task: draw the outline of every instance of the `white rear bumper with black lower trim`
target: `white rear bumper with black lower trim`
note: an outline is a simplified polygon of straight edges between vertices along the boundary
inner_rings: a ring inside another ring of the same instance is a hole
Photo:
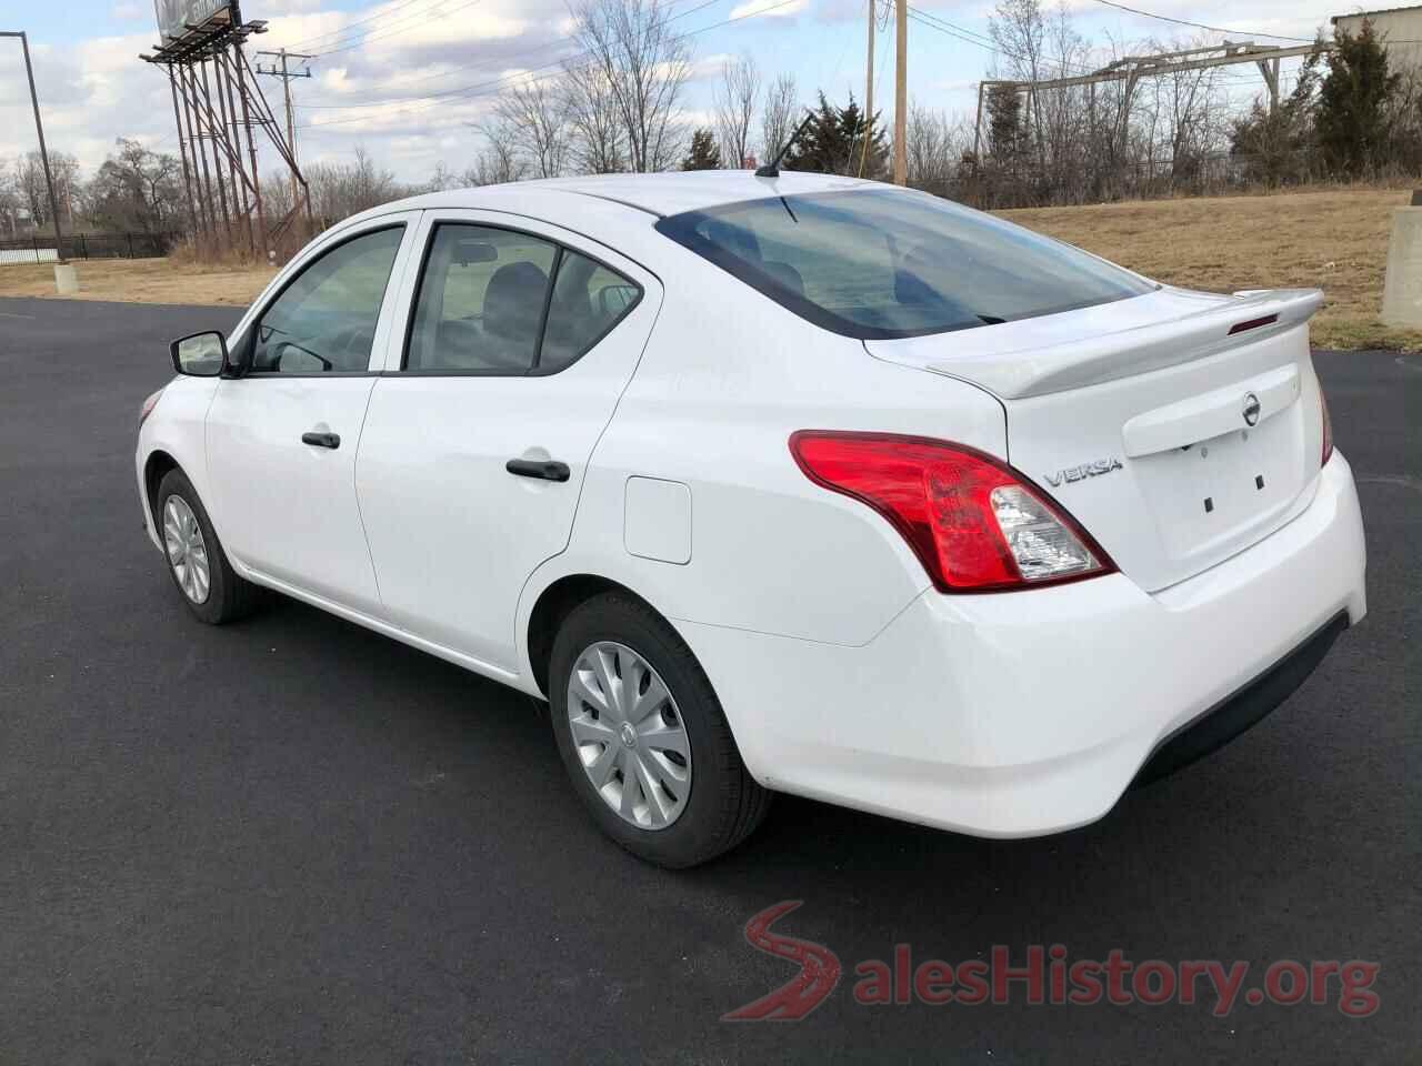
[[[1155,594],[1122,574],[998,596],[927,591],[860,647],[678,623],[755,777],[975,836],[1099,819],[1301,684],[1367,611],[1341,455],[1310,506]]]

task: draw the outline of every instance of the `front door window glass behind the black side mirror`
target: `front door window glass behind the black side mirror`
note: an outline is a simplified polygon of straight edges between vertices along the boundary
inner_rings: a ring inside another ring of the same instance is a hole
[[[252,370],[266,374],[364,371],[375,343],[404,226],[337,244],[307,266],[262,313]]]

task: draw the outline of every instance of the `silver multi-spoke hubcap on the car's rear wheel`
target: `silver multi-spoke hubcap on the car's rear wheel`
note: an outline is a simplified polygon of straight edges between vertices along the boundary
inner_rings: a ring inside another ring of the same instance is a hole
[[[567,679],[573,745],[609,807],[638,829],[665,829],[691,796],[691,741],[657,671],[623,644],[583,650]]]

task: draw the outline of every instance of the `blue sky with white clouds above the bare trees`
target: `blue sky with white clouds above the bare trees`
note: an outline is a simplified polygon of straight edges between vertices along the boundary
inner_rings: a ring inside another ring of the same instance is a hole
[[[1065,1],[1078,31],[1101,44],[1203,33],[1103,0]],[[684,107],[694,124],[710,122],[715,80],[734,55],[751,57],[768,78],[792,72],[806,102],[816,90],[832,99],[863,95],[867,0],[663,3],[691,47]],[[1358,10],[1318,0],[1123,3],[1260,44],[1311,38],[1330,16]],[[977,81],[995,60],[987,38],[993,0],[913,0],[910,10],[910,95],[921,105],[970,114]],[[488,115],[498,88],[547,77],[576,55],[566,0],[246,0],[242,17],[267,21],[252,50],[316,54],[311,77],[293,82],[301,161],[350,159],[364,148],[405,182],[424,181],[438,162],[464,171],[479,151],[471,124]],[[158,40],[152,0],[0,0],[0,30],[28,33],[46,138],[51,149],[75,155],[84,176],[118,136],[176,152],[168,81],[138,58]],[[892,28],[879,33],[877,43],[875,99],[889,118]],[[280,109],[280,82],[262,82]],[[1229,68],[1229,84],[1240,98],[1263,87],[1247,64]],[[0,166],[36,145],[20,43],[0,38]],[[269,166],[264,162],[263,171]]]

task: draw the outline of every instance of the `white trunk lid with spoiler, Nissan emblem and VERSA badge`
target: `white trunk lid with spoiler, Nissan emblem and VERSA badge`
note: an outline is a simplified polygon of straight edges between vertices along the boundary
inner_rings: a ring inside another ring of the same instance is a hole
[[[865,347],[998,397],[1008,462],[1156,591],[1307,506],[1322,448],[1308,348],[1321,300],[1317,290],[1160,289]]]

